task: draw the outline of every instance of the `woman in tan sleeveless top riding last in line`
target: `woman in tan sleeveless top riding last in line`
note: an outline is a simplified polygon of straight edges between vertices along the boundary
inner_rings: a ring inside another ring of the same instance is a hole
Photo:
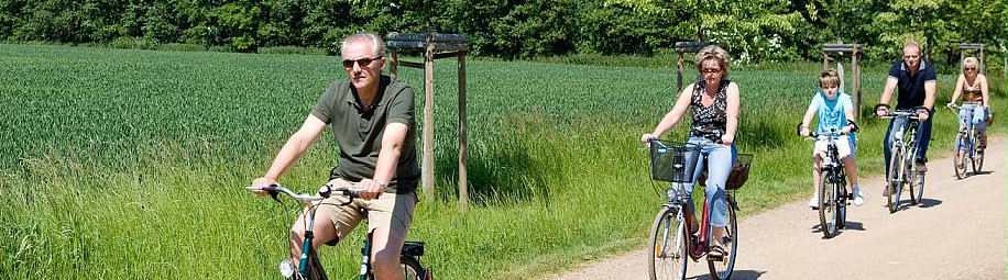
[[[963,105],[960,108],[958,117],[960,131],[964,127],[963,122],[972,122],[977,131],[977,147],[987,146],[986,121],[990,112],[990,99],[987,94],[987,77],[979,74],[979,63],[976,57],[966,57],[963,60],[963,74],[960,74],[958,81],[955,83],[955,92],[952,93],[952,101],[946,107],[951,108],[958,100],[960,93],[963,94]],[[983,110],[980,110],[983,109]]]

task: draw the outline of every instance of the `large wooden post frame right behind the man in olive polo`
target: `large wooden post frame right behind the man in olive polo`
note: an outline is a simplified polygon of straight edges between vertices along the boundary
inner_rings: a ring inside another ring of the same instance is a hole
[[[469,53],[469,38],[463,34],[445,33],[397,33],[385,35],[385,46],[390,51],[391,76],[396,79],[398,67],[424,69],[424,147],[420,165],[420,183],[424,198],[434,198],[434,60],[456,57],[459,74],[459,204],[464,209],[469,204],[468,163],[469,144],[465,120],[465,54]],[[424,63],[402,61],[399,49],[424,49]]]

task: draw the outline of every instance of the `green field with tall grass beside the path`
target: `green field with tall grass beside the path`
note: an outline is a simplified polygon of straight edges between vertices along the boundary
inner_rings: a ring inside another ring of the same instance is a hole
[[[342,77],[336,58],[0,45],[0,131],[11,132],[0,133],[0,279],[276,278],[299,208],[241,187]],[[473,205],[463,211],[452,64],[436,69],[438,194],[409,232],[427,242],[423,262],[438,279],[537,278],[643,244],[662,186],[637,139],[671,107],[675,72],[469,61]],[[793,136],[817,87],[809,65],[733,74],[739,149],[756,154],[742,215],[810,191],[811,143]],[[423,74],[401,77],[421,107]],[[936,103],[953,78],[940,77]],[[866,108],[884,79],[865,74]],[[994,85],[1005,112],[1008,88]],[[951,111],[935,117],[932,157],[955,127]],[[859,121],[858,165],[877,173],[885,122]],[[282,182],[313,190],[333,146],[321,137]],[[321,251],[333,278],[355,273],[361,234]]]

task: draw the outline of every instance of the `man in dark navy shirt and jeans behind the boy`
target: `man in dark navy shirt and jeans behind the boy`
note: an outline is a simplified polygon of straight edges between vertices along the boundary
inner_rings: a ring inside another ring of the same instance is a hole
[[[892,98],[892,91],[897,91],[896,109],[897,110],[916,110],[920,122],[918,133],[917,150],[917,170],[927,171],[928,167],[928,144],[931,142],[931,114],[934,112],[934,92],[938,88],[938,78],[934,75],[934,66],[924,61],[920,57],[920,45],[917,42],[908,41],[903,45],[903,59],[892,64],[889,68],[889,79],[886,80],[886,87],[875,107],[875,114],[885,116],[889,114],[889,100]],[[886,131],[883,149],[886,155],[886,178],[889,172],[889,157],[892,144],[892,131],[895,127],[906,127],[909,123],[905,120],[894,119],[889,122],[889,128]],[[888,194],[888,193],[887,193]]]

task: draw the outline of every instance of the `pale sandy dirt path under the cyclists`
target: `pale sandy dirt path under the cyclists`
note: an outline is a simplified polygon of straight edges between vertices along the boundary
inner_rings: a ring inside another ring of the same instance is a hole
[[[813,229],[819,216],[806,201],[739,221],[732,279],[1008,279],[1008,139],[990,144],[998,153],[988,154],[987,172],[963,180],[951,158],[932,159],[921,205],[894,214],[884,178],[862,180],[865,205],[848,208],[848,228],[832,239]],[[635,250],[554,279],[648,279],[645,256]],[[710,278],[705,262],[687,271]]]

